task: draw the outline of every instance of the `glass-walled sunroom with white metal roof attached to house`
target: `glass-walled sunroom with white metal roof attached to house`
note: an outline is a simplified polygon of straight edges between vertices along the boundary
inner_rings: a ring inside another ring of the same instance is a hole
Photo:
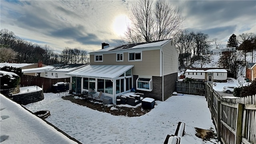
[[[130,92],[132,85],[132,68],[134,65],[88,65],[69,72],[72,92],[81,94],[84,90],[93,89],[96,94],[102,91],[103,96],[112,98]]]

